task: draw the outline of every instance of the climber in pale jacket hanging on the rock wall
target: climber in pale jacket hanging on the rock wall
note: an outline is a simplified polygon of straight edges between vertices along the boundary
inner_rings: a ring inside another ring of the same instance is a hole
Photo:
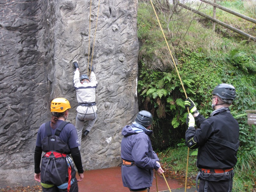
[[[78,135],[78,140],[81,143],[84,121],[88,121],[88,125],[83,132],[83,136],[86,137],[91,131],[92,126],[97,119],[95,92],[98,83],[96,81],[96,76],[93,72],[92,66],[89,65],[89,71],[91,71],[91,75],[89,78],[87,75],[82,75],[80,77],[78,61],[74,60],[73,65],[74,68],[76,68],[74,75],[74,85],[76,89],[76,98],[78,101],[78,106],[76,108],[76,131]]]

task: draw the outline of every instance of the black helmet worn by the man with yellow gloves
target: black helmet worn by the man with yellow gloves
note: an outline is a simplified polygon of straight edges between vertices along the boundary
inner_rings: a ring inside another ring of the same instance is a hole
[[[236,88],[230,84],[218,84],[212,91],[212,95],[218,95],[226,103],[232,103],[236,99]]]

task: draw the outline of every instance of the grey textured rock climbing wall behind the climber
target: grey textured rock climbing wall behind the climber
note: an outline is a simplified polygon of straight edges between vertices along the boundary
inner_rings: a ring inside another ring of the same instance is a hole
[[[52,99],[67,98],[68,121],[76,123],[73,60],[80,74],[92,63],[98,81],[98,118],[82,139],[84,169],[120,163],[121,130],[138,112],[137,0],[101,0],[99,14],[93,1],[91,17],[90,4],[0,2],[0,186],[34,183],[36,133],[50,120]]]

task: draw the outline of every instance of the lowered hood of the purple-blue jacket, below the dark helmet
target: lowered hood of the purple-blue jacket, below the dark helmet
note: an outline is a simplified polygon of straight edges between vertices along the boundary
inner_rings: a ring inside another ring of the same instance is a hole
[[[147,130],[144,126],[142,126],[141,124],[137,123],[137,122],[133,122],[132,125],[126,125],[124,126],[123,130],[122,130],[122,135],[124,136],[128,136],[128,135],[132,135],[132,134],[137,134],[140,132],[144,132],[146,133],[148,136],[151,136],[153,131],[151,130]]]

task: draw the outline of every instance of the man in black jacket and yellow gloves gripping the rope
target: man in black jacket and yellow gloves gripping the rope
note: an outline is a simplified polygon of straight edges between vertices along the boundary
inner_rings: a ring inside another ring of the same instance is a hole
[[[190,98],[185,100],[185,107],[190,112],[185,137],[189,148],[198,148],[196,166],[199,169],[197,179],[200,179],[200,192],[232,191],[233,167],[237,162],[239,147],[239,125],[231,115],[229,106],[235,98],[236,89],[233,85],[217,85],[212,91],[213,112],[207,119],[197,111]]]

